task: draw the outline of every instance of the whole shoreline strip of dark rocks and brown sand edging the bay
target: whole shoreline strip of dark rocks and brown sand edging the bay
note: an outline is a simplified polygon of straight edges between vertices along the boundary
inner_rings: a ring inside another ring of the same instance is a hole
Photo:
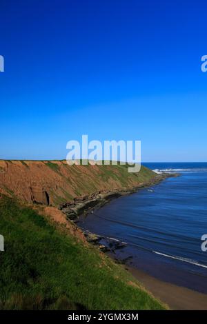
[[[99,192],[93,196],[88,196],[86,199],[77,199],[74,204],[67,205],[66,210],[64,207],[62,211],[69,216],[72,215],[72,221],[75,223],[79,222],[80,217],[86,217],[88,213],[93,213],[93,210],[99,209],[106,203],[112,201],[112,199],[118,198],[119,196],[124,196],[127,194],[132,194],[139,189],[148,188],[151,185],[158,184],[164,179],[170,176],[178,176],[179,174],[161,174],[155,177],[153,181],[149,183],[144,183],[139,185],[137,188],[128,188],[125,190],[114,190],[112,192]],[[74,208],[71,213],[71,206]],[[69,209],[67,209],[69,207]],[[75,211],[75,213],[74,213]],[[70,219],[70,217],[68,217]],[[70,219],[71,220],[71,219]],[[79,225],[78,225],[79,226]],[[106,238],[99,236],[97,234],[83,230],[83,234],[86,236],[87,241],[97,245],[99,250],[106,252],[107,255],[117,263],[121,263],[115,258],[115,254],[111,253],[112,250],[116,250],[124,247],[124,244],[117,241],[108,241],[108,246],[104,245],[103,241]],[[103,240],[102,240],[103,239]],[[123,264],[123,262],[122,262]],[[175,285],[173,283],[168,283],[160,279],[156,279],[147,272],[139,270],[138,267],[132,267],[127,263],[124,263],[126,271],[129,271],[141,285],[143,285],[148,292],[150,292],[155,298],[158,298],[162,303],[166,303],[170,310],[207,310],[207,294],[191,290],[187,287],[182,287]]]

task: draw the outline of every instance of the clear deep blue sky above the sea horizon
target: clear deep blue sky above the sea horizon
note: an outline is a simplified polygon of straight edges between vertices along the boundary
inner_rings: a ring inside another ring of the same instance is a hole
[[[206,1],[1,0],[0,159],[141,140],[143,161],[207,161]]]

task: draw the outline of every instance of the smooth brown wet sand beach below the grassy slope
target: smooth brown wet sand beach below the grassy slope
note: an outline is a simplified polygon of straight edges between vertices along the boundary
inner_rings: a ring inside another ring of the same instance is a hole
[[[135,267],[127,266],[127,269],[155,298],[166,303],[170,310],[207,310],[207,294],[160,281]]]

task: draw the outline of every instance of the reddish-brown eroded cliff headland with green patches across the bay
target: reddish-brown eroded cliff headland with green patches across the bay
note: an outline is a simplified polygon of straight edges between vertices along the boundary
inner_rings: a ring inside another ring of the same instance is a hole
[[[142,167],[128,173],[126,165],[68,165],[66,161],[0,161],[0,192],[28,203],[58,206],[77,196],[132,188],[155,177]]]

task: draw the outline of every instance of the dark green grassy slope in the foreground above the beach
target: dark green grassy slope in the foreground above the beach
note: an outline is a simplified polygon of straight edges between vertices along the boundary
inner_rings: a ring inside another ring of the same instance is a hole
[[[164,309],[121,265],[6,196],[0,229],[1,310]]]

